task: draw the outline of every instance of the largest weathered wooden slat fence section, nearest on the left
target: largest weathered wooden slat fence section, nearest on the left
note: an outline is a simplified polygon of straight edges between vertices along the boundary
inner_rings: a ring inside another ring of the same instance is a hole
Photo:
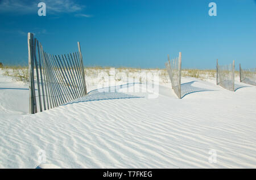
[[[30,114],[86,96],[81,48],[77,44],[79,52],[52,55],[44,52],[40,42],[28,33]]]

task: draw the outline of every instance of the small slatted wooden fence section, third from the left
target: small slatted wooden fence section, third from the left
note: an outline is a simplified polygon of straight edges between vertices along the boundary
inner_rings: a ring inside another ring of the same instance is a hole
[[[218,65],[216,66],[216,83],[217,85],[221,85],[221,87],[228,89],[230,91],[234,91],[234,61],[233,64],[229,65]]]

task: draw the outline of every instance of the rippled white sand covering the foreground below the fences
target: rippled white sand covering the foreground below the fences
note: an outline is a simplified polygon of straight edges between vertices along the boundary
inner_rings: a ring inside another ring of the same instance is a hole
[[[0,72],[0,168],[36,168],[40,149],[61,168],[256,168],[256,87],[181,83],[181,100],[170,84],[158,98],[122,88],[28,114],[28,85]]]

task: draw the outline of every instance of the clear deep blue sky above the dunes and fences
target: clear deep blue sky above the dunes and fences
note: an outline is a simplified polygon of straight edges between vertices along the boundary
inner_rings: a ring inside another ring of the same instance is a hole
[[[50,54],[80,41],[85,66],[164,68],[182,52],[183,68],[256,67],[255,0],[0,0],[0,62],[27,64],[28,32]]]

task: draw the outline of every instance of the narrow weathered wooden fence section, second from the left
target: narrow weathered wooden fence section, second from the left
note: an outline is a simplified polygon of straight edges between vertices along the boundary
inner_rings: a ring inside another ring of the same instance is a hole
[[[170,61],[168,55],[168,62],[166,62],[166,69],[171,80],[172,89],[178,98],[181,98],[181,52],[179,57]]]

